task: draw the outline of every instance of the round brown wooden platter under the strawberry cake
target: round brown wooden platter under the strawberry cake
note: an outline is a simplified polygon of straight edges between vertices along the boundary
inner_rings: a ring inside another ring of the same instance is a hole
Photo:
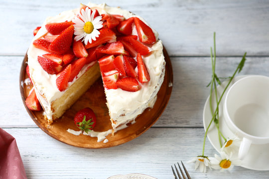
[[[94,85],[88,91],[86,91],[72,106],[68,109],[63,116],[52,124],[47,124],[44,120],[43,110],[41,111],[31,111],[27,108],[25,104],[25,99],[29,94],[29,91],[32,89],[32,85],[21,86],[21,81],[24,81],[28,78],[26,74],[27,66],[27,54],[24,57],[22,62],[20,77],[19,77],[19,86],[21,98],[24,103],[24,106],[36,123],[36,125],[41,128],[45,133],[61,141],[63,143],[83,148],[108,148],[114,147],[120,144],[124,144],[138,137],[144,133],[148,128],[150,128],[160,117],[164,111],[168,100],[172,92],[172,86],[169,85],[173,83],[173,71],[171,61],[166,50],[163,50],[166,66],[165,66],[165,76],[162,86],[157,93],[157,100],[152,109],[145,109],[142,114],[136,117],[134,124],[128,124],[129,127],[117,131],[114,135],[109,134],[106,138],[108,139],[107,143],[103,141],[97,142],[96,137],[90,137],[86,135],[73,135],[67,132],[67,129],[73,129],[79,131],[79,129],[74,124],[73,118],[77,111],[85,107],[90,107],[94,110],[97,118],[96,126],[94,131],[107,131],[112,129],[111,121],[108,113],[108,108],[106,105],[106,96],[104,92],[104,87],[102,79],[100,78],[95,82]]]

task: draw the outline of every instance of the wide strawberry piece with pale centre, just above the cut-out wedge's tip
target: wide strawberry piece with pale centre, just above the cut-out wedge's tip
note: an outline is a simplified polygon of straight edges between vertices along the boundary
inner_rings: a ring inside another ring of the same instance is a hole
[[[123,43],[120,41],[108,43],[103,47],[99,47],[97,52],[109,55],[129,55],[129,53],[124,50]]]

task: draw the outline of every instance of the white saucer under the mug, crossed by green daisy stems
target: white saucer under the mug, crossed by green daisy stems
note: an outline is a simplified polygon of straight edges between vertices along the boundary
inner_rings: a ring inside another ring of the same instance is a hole
[[[238,80],[244,78],[246,76],[238,76],[235,77],[228,89]],[[228,84],[228,81],[225,81],[222,83],[222,85],[218,86],[218,98],[222,94],[223,90],[225,89],[226,85]],[[220,130],[223,133],[224,137],[234,137],[234,134],[230,131],[228,126],[226,125],[226,122],[224,121],[223,118],[223,104],[224,104],[224,99],[226,96],[226,93],[224,93],[222,100],[219,104],[219,123],[220,123]],[[213,92],[214,95],[212,95],[212,105],[213,109],[216,108],[216,98],[215,98],[215,92]],[[204,123],[204,128],[206,130],[208,124],[210,123],[212,119],[212,114],[210,111],[210,104],[209,104],[209,97],[206,100],[205,106],[204,106],[204,111],[203,111],[203,123]],[[220,152],[220,143],[219,143],[219,137],[218,137],[218,130],[215,127],[214,122],[212,122],[208,133],[207,133],[207,138],[209,139],[210,143],[212,146]],[[224,141],[222,140],[222,144]],[[207,155],[207,154],[205,154]],[[210,155],[210,156],[213,156]],[[246,169],[251,169],[251,170],[258,170],[258,171],[267,171],[269,170],[269,144],[264,144],[264,145],[254,145],[252,144],[249,150],[248,155],[245,157],[245,159],[242,161],[242,166]]]

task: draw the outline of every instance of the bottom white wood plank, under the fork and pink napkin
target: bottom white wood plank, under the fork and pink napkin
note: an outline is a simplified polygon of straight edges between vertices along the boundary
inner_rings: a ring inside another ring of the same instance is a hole
[[[268,179],[269,171],[235,167],[231,173],[194,171],[187,164],[202,152],[203,129],[154,128],[138,138],[108,149],[82,149],[63,144],[40,129],[4,129],[15,137],[28,179],[106,179],[142,173],[172,179],[171,165],[182,160],[193,179]],[[209,142],[205,154],[216,153]]]

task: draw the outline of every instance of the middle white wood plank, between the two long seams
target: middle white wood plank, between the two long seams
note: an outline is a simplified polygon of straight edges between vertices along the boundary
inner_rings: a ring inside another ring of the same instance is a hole
[[[240,75],[269,76],[269,57],[247,57]],[[19,70],[22,56],[0,56],[0,127],[36,127],[22,103]],[[241,58],[217,58],[217,75],[231,76]],[[170,101],[154,127],[202,127],[202,112],[211,79],[208,57],[171,58],[174,83]],[[13,122],[10,122],[12,119]]]

